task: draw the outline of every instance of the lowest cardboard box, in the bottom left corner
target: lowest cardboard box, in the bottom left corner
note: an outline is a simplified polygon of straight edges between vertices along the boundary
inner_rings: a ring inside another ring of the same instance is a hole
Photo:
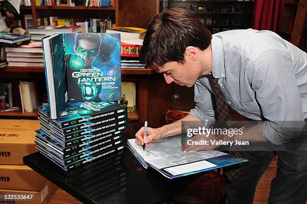
[[[44,186],[40,191],[26,191],[26,190],[7,190],[0,189],[0,194],[4,193],[7,196],[9,195],[32,195],[32,200],[5,200],[0,198],[0,203],[31,203],[31,204],[46,204],[52,197],[53,193],[57,190],[58,186],[50,182],[49,180],[45,182]]]

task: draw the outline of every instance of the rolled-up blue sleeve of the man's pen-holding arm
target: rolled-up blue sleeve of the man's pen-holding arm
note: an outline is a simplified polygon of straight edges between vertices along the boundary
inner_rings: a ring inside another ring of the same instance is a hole
[[[215,121],[215,105],[213,105],[215,102],[208,90],[208,86],[208,76],[202,76],[196,81],[194,86],[194,101],[196,102],[196,106],[189,113],[198,117],[203,124],[205,120]]]

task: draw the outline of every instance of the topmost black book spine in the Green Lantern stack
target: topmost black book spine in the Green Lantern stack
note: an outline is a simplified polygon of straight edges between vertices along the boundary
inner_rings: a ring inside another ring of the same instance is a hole
[[[116,114],[126,114],[127,115],[127,107],[124,106],[120,109],[117,110],[110,110],[104,113],[96,113],[96,114],[92,114],[92,115],[88,115],[87,117],[82,117],[82,118],[77,118],[77,119],[73,119],[73,120],[68,120],[65,122],[61,122],[61,128],[65,128],[65,127],[69,127],[72,125],[78,125],[80,123],[84,123],[84,122],[91,122],[97,119],[101,119],[104,117],[109,117],[112,115],[116,115]]]

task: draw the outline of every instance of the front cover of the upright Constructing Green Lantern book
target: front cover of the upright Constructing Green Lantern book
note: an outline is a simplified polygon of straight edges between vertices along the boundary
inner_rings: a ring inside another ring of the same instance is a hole
[[[64,34],[64,44],[68,101],[120,100],[119,34]]]

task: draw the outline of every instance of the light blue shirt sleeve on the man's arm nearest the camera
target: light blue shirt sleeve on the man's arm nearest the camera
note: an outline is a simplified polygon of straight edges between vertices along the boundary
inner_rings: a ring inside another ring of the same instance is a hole
[[[266,120],[260,131],[267,140],[282,144],[302,132],[302,102],[288,52],[270,50],[262,54],[254,64],[252,88]]]

